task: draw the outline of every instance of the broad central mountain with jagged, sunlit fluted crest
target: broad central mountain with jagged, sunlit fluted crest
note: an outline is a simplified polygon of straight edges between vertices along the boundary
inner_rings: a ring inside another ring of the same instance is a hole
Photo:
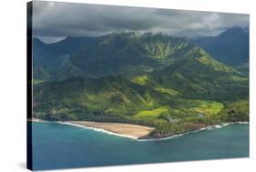
[[[191,46],[189,41],[166,35],[105,35],[100,43],[73,54],[56,77],[144,74],[182,56],[185,46]]]

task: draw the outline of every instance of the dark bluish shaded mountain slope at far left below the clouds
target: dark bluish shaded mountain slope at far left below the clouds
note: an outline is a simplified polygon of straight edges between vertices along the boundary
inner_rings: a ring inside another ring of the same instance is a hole
[[[33,38],[33,77],[36,80],[54,80],[60,69],[70,64],[70,56],[99,42],[99,37],[67,37],[52,44]]]

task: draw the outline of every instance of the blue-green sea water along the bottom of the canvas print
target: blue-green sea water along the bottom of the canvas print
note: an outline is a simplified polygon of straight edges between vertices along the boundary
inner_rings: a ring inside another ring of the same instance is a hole
[[[249,125],[140,142],[77,126],[32,126],[33,168],[37,170],[249,157]]]

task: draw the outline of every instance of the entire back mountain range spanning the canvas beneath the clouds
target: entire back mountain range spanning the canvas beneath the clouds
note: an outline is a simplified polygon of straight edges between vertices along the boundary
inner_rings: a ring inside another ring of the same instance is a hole
[[[169,35],[136,33],[67,37],[53,44],[44,44],[35,38],[34,78],[61,80],[71,76],[145,74],[183,56],[195,46],[193,42],[218,61],[248,73],[244,66],[249,61],[249,34],[234,27],[218,36],[192,41]]]

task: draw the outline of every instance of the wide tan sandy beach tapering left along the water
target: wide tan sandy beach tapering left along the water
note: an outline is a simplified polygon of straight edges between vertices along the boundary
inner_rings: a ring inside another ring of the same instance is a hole
[[[91,126],[99,129],[104,129],[109,132],[116,133],[122,136],[129,136],[134,138],[145,137],[154,130],[153,127],[139,126],[123,123],[101,123],[101,122],[90,122],[90,121],[67,121],[68,123]]]

